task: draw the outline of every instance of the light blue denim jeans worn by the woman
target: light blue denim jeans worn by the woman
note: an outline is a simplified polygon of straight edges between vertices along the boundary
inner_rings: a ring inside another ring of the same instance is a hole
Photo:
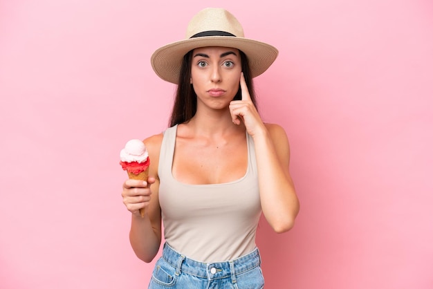
[[[186,258],[165,243],[163,257],[156,261],[149,289],[261,289],[264,278],[260,264],[257,248],[238,259],[202,263]]]

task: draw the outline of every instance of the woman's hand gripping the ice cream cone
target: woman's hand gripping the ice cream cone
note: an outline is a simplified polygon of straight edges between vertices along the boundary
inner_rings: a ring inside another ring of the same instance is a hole
[[[155,183],[155,178],[151,177],[147,182],[145,180],[125,180],[122,186],[122,198],[129,212],[140,216],[140,209],[149,205],[151,199],[150,185],[153,183]]]

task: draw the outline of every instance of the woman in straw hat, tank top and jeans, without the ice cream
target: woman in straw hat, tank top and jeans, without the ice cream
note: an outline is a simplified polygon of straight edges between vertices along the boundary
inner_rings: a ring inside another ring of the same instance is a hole
[[[122,192],[142,261],[158,253],[164,224],[163,257],[149,288],[263,288],[259,217],[282,233],[299,210],[286,133],[261,121],[252,90],[252,77],[276,57],[219,8],[199,12],[187,39],[152,55],[156,74],[178,84],[172,119],[144,141],[149,180],[126,180]]]

